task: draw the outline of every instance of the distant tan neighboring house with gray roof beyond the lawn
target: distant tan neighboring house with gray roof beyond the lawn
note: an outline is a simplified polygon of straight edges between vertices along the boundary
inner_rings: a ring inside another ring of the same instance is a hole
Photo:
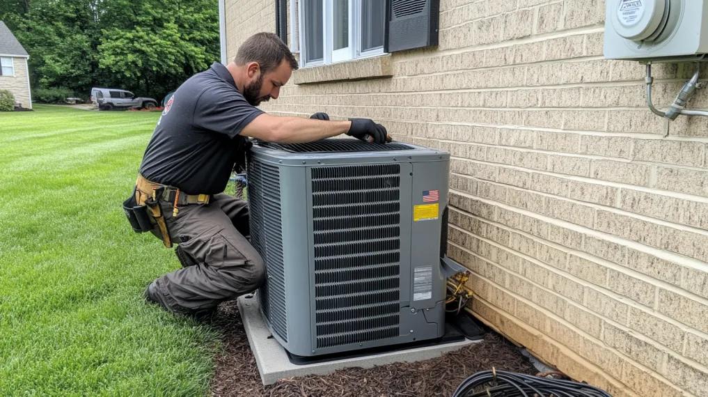
[[[0,21],[0,89],[9,90],[16,104],[31,109],[29,57],[15,35]]]

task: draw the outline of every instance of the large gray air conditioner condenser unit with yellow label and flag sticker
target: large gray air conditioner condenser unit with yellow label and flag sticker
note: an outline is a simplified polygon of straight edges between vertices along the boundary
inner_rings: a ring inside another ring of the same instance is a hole
[[[248,164],[266,323],[291,354],[442,337],[450,155],[353,139],[261,142]]]

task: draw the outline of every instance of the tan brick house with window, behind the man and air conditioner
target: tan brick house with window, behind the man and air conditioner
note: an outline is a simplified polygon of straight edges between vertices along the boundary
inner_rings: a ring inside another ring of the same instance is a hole
[[[394,51],[429,2],[394,0],[384,43],[384,1],[219,0],[222,62],[279,30],[302,68],[266,111],[449,151],[448,255],[492,328],[614,396],[708,395],[708,118],[649,111],[644,66],[603,57],[604,1],[441,0],[439,44]],[[655,68],[666,105],[692,69]]]

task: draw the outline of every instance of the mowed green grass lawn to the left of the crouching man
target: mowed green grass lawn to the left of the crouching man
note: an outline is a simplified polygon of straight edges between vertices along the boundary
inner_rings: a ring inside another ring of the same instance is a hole
[[[120,204],[159,113],[0,113],[0,396],[193,396],[218,337],[146,305],[179,267]]]

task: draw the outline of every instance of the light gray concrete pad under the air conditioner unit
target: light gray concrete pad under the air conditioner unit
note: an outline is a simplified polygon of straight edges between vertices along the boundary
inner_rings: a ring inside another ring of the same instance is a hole
[[[287,358],[287,352],[280,343],[271,337],[268,326],[261,315],[261,304],[252,294],[239,297],[239,313],[249,337],[249,344],[253,355],[256,357],[258,372],[264,385],[274,384],[279,379],[294,376],[326,375],[337,369],[349,367],[370,368],[377,365],[391,364],[393,362],[416,362],[425,359],[440,357],[445,352],[458,350],[461,347],[481,342],[481,340],[462,340],[440,345],[411,347],[406,350],[394,352],[375,353],[363,357],[348,357],[328,362],[296,365]]]

